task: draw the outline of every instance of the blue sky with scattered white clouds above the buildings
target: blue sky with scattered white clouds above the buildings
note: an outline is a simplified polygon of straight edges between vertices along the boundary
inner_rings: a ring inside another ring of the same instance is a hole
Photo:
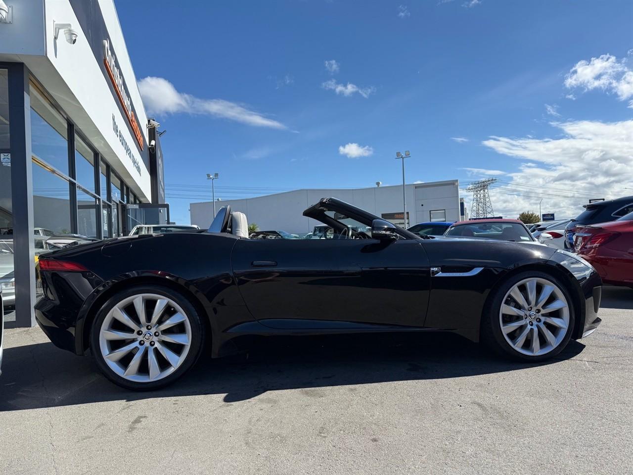
[[[544,212],[572,215],[627,193],[633,2],[116,7],[146,106],[168,130],[177,222],[210,198],[208,172],[225,199],[398,184],[404,149],[408,182],[498,177],[493,205],[509,217],[543,196]]]

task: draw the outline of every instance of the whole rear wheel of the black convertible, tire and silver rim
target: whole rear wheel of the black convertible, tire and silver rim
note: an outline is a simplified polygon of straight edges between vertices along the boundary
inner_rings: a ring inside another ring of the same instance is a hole
[[[113,383],[153,390],[173,383],[196,362],[204,324],[184,296],[139,286],[113,295],[92,325],[97,366]]]

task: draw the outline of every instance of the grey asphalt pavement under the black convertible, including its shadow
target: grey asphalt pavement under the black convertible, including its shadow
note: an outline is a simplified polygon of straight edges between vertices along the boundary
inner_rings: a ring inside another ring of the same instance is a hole
[[[151,393],[9,329],[0,472],[633,473],[633,290],[602,306],[548,364],[452,335],[269,338]]]

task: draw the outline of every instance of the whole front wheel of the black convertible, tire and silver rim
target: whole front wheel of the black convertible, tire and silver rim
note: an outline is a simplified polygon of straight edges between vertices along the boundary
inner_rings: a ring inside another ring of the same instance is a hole
[[[574,320],[572,299],[558,279],[544,272],[522,272],[497,289],[481,336],[505,355],[541,361],[567,346]]]

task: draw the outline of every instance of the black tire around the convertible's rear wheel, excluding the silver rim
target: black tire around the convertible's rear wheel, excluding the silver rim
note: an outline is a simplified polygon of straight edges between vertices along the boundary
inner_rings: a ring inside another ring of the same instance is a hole
[[[189,325],[191,326],[191,345],[189,346],[189,352],[185,356],[184,361],[182,361],[180,366],[177,367],[177,369],[175,369],[175,371],[173,371],[171,374],[168,374],[168,376],[165,376],[156,381],[136,382],[119,376],[106,363],[101,352],[101,346],[99,345],[101,326],[104,319],[108,315],[108,312],[110,312],[110,310],[115,307],[115,305],[117,305],[124,299],[139,294],[156,294],[164,296],[177,303],[177,305],[179,305],[179,307],[183,310],[183,313],[185,314],[185,317],[189,320]],[[173,291],[170,288],[160,286],[135,286],[130,289],[120,291],[111,296],[106,301],[106,303],[104,303],[103,307],[99,309],[99,312],[92,322],[91,327],[91,353],[94,357],[97,367],[99,368],[99,371],[101,371],[105,377],[110,379],[110,381],[115,383],[117,386],[121,386],[122,388],[133,391],[157,390],[158,388],[163,388],[165,386],[168,386],[169,384],[172,384],[174,381],[179,379],[179,377],[185,374],[185,372],[189,371],[189,369],[191,369],[191,367],[196,363],[201,354],[203,343],[206,338],[205,331],[206,327],[204,326],[201,315],[199,315],[199,312],[196,311],[196,308],[191,304],[191,302],[180,293]]]

